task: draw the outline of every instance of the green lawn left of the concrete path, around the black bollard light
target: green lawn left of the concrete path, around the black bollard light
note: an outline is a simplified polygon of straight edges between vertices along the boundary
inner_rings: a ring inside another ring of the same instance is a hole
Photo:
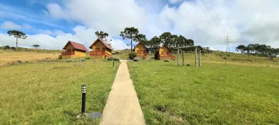
[[[0,124],[98,124],[77,119],[80,86],[87,85],[86,113],[103,112],[116,70],[109,61],[33,63],[0,67]]]

